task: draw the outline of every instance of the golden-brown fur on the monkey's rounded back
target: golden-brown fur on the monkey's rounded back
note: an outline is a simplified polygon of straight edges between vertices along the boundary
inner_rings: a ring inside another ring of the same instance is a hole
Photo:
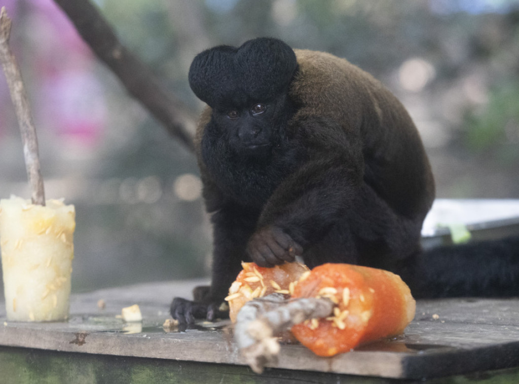
[[[330,53],[294,50],[299,72],[291,97],[303,105],[294,116],[327,116],[359,135],[368,159],[384,162],[377,174],[393,208],[423,220],[434,199],[431,167],[406,109],[372,75]]]

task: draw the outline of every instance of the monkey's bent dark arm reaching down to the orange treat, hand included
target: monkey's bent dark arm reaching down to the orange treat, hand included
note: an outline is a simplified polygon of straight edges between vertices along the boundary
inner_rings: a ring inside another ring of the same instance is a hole
[[[331,119],[308,117],[299,123],[294,145],[305,148],[306,160],[269,198],[247,245],[261,266],[291,261],[320,240],[347,213],[362,184],[358,134]]]

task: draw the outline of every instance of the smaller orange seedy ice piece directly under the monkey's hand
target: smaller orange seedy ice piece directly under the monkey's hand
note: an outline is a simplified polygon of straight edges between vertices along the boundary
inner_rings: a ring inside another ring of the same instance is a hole
[[[299,277],[309,271],[301,263],[285,263],[273,268],[258,267],[255,263],[241,263],[242,270],[229,288],[225,298],[229,303],[229,317],[236,322],[236,316],[247,301],[274,292],[289,295]]]

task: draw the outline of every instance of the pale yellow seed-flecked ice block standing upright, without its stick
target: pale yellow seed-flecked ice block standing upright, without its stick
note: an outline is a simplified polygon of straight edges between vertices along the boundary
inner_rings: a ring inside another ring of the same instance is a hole
[[[74,205],[46,206],[11,196],[0,200],[0,245],[7,320],[64,321],[69,317]]]

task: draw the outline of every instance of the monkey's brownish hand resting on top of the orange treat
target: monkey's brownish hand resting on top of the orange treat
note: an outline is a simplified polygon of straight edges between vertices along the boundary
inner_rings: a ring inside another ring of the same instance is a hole
[[[274,267],[293,262],[303,247],[279,227],[269,226],[252,235],[247,244],[247,255],[260,267]]]

